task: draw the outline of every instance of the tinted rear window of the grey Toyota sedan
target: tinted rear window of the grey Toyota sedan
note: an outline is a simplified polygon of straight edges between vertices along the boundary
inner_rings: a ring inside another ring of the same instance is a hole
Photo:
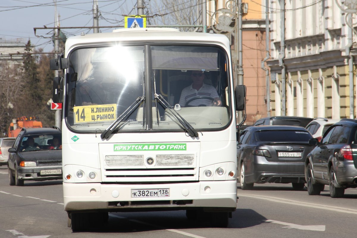
[[[308,141],[312,138],[307,131],[293,130],[266,130],[255,132],[257,141],[281,142],[281,141]]]

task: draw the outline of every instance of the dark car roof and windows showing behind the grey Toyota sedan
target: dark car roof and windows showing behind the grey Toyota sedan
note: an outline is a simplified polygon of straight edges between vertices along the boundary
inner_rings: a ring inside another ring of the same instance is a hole
[[[254,126],[286,125],[306,127],[307,124],[311,121],[312,118],[310,117],[275,116],[261,118],[254,123]]]

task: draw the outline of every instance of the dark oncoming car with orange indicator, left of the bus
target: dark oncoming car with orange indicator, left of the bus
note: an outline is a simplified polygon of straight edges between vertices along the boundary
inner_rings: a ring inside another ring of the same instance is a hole
[[[25,180],[62,179],[61,131],[53,128],[23,128],[9,148],[10,185]]]

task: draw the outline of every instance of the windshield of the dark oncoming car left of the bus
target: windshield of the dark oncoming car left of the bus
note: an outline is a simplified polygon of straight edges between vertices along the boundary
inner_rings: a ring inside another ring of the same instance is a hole
[[[60,134],[24,136],[20,143],[20,151],[61,150]]]

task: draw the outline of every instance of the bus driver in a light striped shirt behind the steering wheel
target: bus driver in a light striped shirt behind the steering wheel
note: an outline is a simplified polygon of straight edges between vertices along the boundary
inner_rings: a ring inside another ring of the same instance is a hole
[[[186,105],[186,102],[190,99],[197,97],[210,97],[210,99],[206,98],[197,98],[197,100],[192,100],[190,102],[190,106],[221,106],[222,101],[218,97],[218,93],[216,89],[208,84],[203,83],[203,79],[205,78],[204,71],[193,70],[191,71],[191,79],[192,84],[188,87],[183,88],[181,92],[180,104],[181,107]],[[214,99],[214,101],[213,101]],[[212,103],[213,101],[213,103]]]

